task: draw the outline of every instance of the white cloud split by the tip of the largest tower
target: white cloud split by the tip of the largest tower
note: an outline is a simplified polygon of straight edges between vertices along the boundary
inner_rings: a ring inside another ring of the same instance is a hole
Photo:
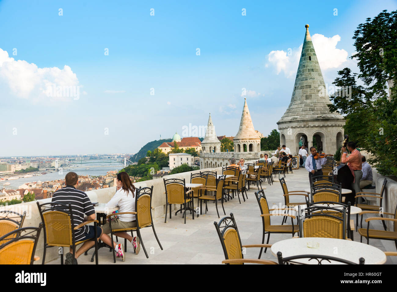
[[[333,37],[325,37],[318,33],[312,35],[312,42],[318,63],[320,64],[321,70],[327,70],[330,68],[338,68],[343,62],[347,61],[347,51],[336,48],[337,43],[341,40],[339,35]],[[269,64],[274,66],[276,73],[279,74],[281,71],[287,77],[295,76],[299,59],[301,57],[303,44],[299,48],[288,50],[288,53],[283,50],[273,50],[268,55],[268,62],[265,67]]]

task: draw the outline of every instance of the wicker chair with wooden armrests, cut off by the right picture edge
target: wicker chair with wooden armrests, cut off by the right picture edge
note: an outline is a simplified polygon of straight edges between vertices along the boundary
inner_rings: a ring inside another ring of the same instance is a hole
[[[362,211],[359,215],[364,214],[379,214],[379,211]],[[386,213],[383,212],[382,215],[389,215],[391,218],[384,218],[384,217],[369,217],[365,219],[367,222],[367,228],[360,228],[358,229],[358,234],[360,234],[360,242],[362,242],[362,237],[364,236],[367,239],[367,244],[370,242],[370,238],[374,239],[384,239],[384,240],[393,240],[395,247],[397,249],[397,206],[393,213]],[[387,230],[377,230],[377,229],[370,229],[370,221],[373,220],[382,220],[384,221],[393,221],[393,228],[390,231]]]

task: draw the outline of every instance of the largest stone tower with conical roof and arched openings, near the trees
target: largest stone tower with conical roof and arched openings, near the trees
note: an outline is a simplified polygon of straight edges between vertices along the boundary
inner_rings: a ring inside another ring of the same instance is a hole
[[[317,150],[334,154],[343,141],[345,121],[340,114],[330,113],[330,104],[324,78],[318,64],[316,52],[306,24],[301,59],[292,92],[291,102],[277,122],[280,145],[285,144],[295,155],[299,141],[308,148],[316,142]],[[310,152],[309,152],[310,153]]]

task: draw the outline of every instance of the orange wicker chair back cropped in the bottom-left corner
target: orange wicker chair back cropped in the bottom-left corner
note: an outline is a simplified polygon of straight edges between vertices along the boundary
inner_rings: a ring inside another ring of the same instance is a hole
[[[39,227],[18,228],[0,237],[0,265],[33,265],[39,260],[35,252],[42,228],[40,223]]]

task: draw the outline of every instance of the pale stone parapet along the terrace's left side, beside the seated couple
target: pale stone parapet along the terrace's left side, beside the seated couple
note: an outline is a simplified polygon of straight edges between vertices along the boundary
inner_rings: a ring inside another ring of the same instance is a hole
[[[249,161],[252,162],[252,161]],[[182,172],[179,174],[171,174],[168,176],[165,176],[165,179],[170,179],[170,178],[179,178],[179,179],[185,179],[185,181],[188,183],[190,182],[190,176],[191,174],[198,173],[200,171],[204,170],[194,170],[191,172]],[[216,171],[218,174],[222,173],[222,167],[218,168],[206,168],[205,171]],[[136,182],[134,183],[135,188],[141,188],[141,187],[151,187],[153,186],[153,195],[152,195],[152,216],[153,218],[156,217],[162,217],[165,214],[165,205],[166,205],[166,195],[165,195],[165,187],[164,187],[164,180],[161,179],[155,179],[155,180],[146,180],[144,182]],[[110,201],[110,199],[113,197],[114,193],[116,193],[116,187],[111,187],[111,188],[103,188],[99,190],[93,190],[93,191],[86,191],[88,197],[90,198],[91,202],[98,202],[98,203],[107,203]],[[16,205],[10,205],[10,206],[5,206],[5,207],[0,207],[1,210],[12,210],[15,212],[18,212],[22,214],[23,212],[26,211],[26,218],[25,222],[23,223],[23,227],[28,227],[28,226],[39,226],[41,222],[40,218],[40,213],[39,209],[37,207],[37,202],[40,204],[43,203],[48,203],[51,201],[51,198],[49,199],[42,199],[38,201],[32,201],[28,203],[21,203],[21,204],[16,204]],[[179,208],[179,205],[172,205],[172,209],[175,210]],[[36,255],[40,257],[40,261],[35,262],[35,264],[41,263],[42,259],[42,254],[43,254],[43,232],[40,234],[39,242],[37,244],[36,248]],[[65,253],[69,252],[69,250],[66,248]],[[46,251],[46,263],[49,261],[52,261],[54,259],[59,259],[60,256],[58,254],[58,248],[53,247],[53,248],[47,248]]]

